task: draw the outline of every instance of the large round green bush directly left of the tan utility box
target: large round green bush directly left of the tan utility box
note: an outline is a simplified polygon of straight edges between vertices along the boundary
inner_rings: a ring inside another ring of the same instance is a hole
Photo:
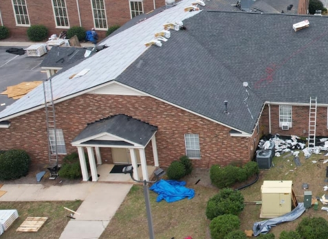
[[[244,208],[243,194],[231,188],[223,188],[218,194],[212,196],[207,202],[206,216],[208,219],[223,215],[232,214],[238,216]]]

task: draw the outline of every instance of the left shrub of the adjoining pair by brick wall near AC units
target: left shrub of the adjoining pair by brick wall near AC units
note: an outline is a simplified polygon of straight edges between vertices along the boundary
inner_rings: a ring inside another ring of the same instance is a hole
[[[219,188],[230,187],[237,181],[236,175],[239,174],[240,168],[226,166],[221,168],[218,165],[210,167],[210,181]]]

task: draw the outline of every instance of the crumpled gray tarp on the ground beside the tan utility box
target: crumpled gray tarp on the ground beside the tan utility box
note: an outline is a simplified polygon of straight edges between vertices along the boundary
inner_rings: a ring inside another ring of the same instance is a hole
[[[253,225],[253,234],[254,236],[259,236],[259,234],[267,234],[270,231],[271,227],[275,227],[280,223],[291,222],[296,218],[300,217],[305,211],[304,203],[298,203],[298,206],[292,210],[292,212],[288,212],[283,216],[279,216],[278,218],[272,218],[269,220],[263,220],[258,223],[254,223]]]

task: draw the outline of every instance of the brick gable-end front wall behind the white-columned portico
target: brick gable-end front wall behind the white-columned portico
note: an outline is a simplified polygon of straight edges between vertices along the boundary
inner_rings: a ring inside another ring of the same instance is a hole
[[[201,159],[193,160],[198,168],[249,161],[259,137],[256,134],[253,137],[231,137],[230,129],[225,126],[149,97],[86,94],[56,104],[56,126],[63,129],[67,152],[76,151],[70,142],[87,123],[120,113],[158,127],[155,137],[160,166],[168,166],[185,154],[185,133],[199,134]],[[21,148],[33,161],[47,163],[44,109],[15,117],[10,122],[10,128],[0,128],[0,149]],[[108,148],[102,148],[100,152],[102,159],[111,162]],[[146,159],[153,164],[151,144],[146,148]]]

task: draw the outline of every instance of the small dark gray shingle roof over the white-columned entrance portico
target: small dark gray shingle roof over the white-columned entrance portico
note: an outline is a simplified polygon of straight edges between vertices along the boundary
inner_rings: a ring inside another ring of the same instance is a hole
[[[127,141],[135,144],[146,146],[155,131],[157,131],[157,127],[152,126],[151,124],[141,122],[140,120],[136,120],[127,115],[114,115],[88,124],[87,127],[82,130],[82,132],[76,136],[75,139],[73,139],[72,143],[83,141],[83,139],[87,140],[103,133],[108,133],[121,139],[126,139]],[[92,144],[92,140],[86,141],[85,143],[88,142]],[[118,141],[113,141],[112,143],[115,144],[117,142]],[[124,141],[120,141],[120,145],[122,144],[126,145]]]

